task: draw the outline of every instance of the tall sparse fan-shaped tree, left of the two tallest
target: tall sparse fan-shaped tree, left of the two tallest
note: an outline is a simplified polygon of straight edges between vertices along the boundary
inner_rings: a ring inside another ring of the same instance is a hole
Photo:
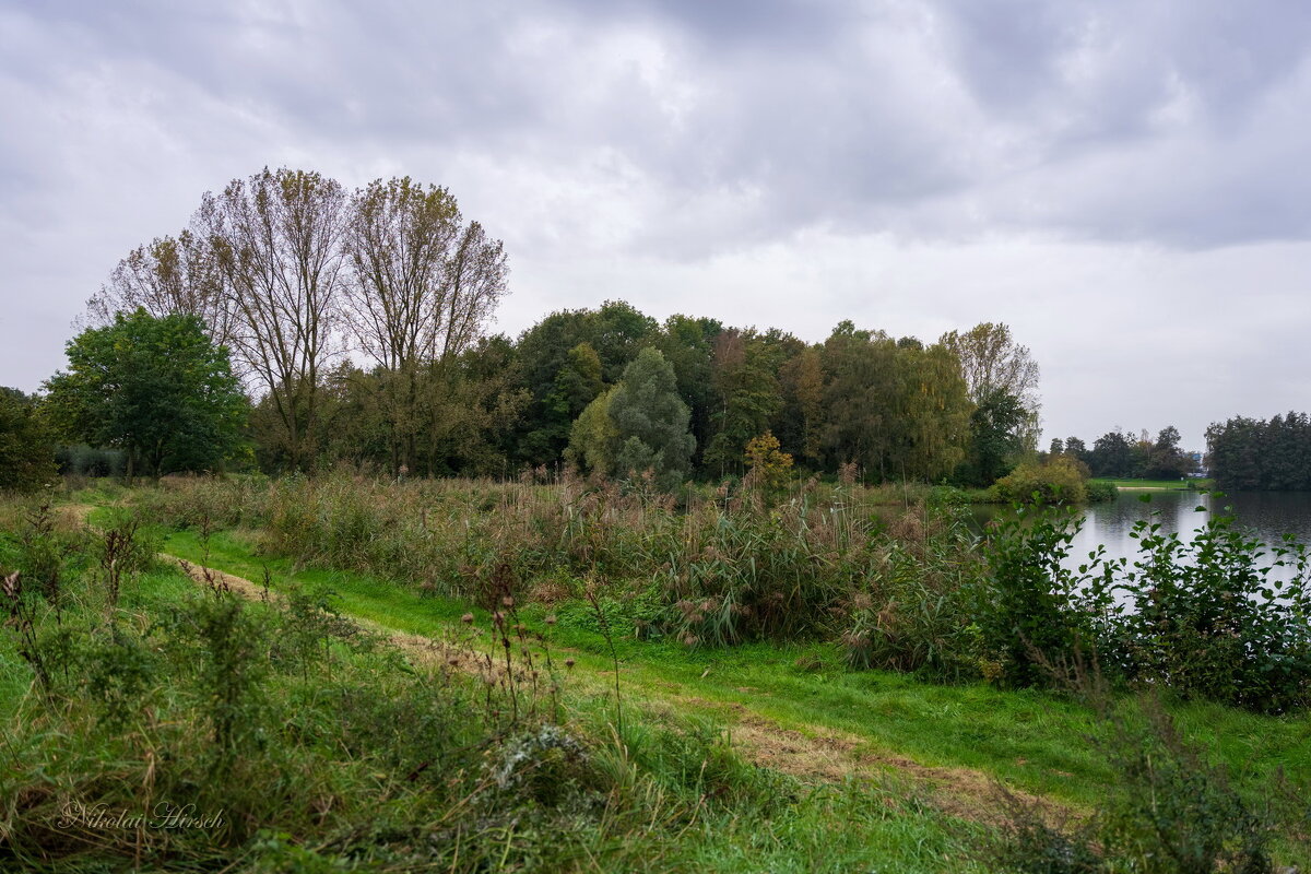
[[[346,193],[279,169],[233,180],[201,207],[233,313],[232,345],[267,393],[290,466],[304,469],[345,283]]]

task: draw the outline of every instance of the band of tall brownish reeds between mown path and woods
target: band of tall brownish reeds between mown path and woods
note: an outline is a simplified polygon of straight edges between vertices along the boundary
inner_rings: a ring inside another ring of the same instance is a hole
[[[645,608],[629,617],[645,633],[688,645],[835,636],[873,605],[897,618],[859,632],[880,638],[865,662],[901,667],[943,660],[895,641],[907,624],[954,618],[945,601],[977,570],[964,522],[926,503],[923,489],[901,490],[902,507],[891,508],[889,487],[815,482],[772,501],[750,489],[694,490],[680,507],[574,478],[182,480],[143,494],[159,522],[256,528],[270,553],[484,604],[506,586],[558,598],[599,584]],[[937,607],[926,616],[928,590]]]

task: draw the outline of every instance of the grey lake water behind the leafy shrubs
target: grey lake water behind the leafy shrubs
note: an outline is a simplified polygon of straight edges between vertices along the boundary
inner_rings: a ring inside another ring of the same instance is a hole
[[[1150,502],[1139,499],[1145,494],[1151,495]],[[1232,511],[1226,512],[1226,507]],[[1224,512],[1268,548],[1282,544],[1286,533],[1311,545],[1311,491],[1245,491],[1215,498],[1196,491],[1121,490],[1116,501],[1089,504],[1084,511],[1083,529],[1070,550],[1071,567],[1086,561],[1099,544],[1105,545],[1106,558],[1127,557],[1133,565],[1139,557],[1138,541],[1130,536],[1134,523],[1154,512],[1162,529],[1179,532],[1184,542],[1193,540],[1213,512]],[[1269,554],[1265,558],[1273,561]],[[1286,571],[1276,569],[1272,578],[1287,579]]]

